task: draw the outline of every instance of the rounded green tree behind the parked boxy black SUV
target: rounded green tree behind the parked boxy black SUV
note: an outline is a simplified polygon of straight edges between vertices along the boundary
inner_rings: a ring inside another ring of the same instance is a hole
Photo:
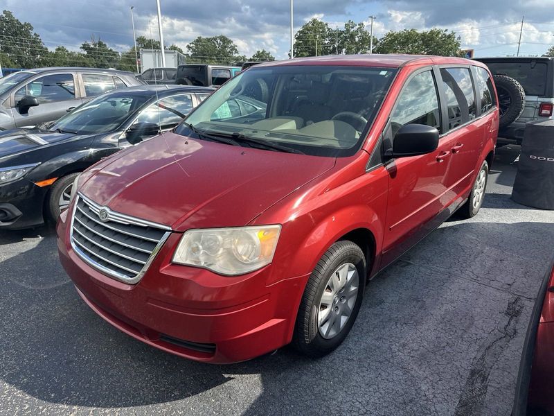
[[[235,64],[246,60],[238,55],[238,48],[233,40],[224,35],[214,37],[199,36],[186,46],[191,62],[206,64]]]

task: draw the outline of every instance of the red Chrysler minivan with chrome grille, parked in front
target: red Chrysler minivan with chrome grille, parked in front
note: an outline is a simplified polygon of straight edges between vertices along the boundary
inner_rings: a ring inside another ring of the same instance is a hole
[[[259,64],[82,173],[60,259],[96,313],[165,351],[231,363],[292,342],[322,356],[368,279],[454,211],[479,211],[498,123],[481,62]]]

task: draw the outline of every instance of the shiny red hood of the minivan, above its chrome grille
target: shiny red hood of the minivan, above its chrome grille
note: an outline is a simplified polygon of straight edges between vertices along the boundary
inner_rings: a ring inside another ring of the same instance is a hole
[[[83,174],[80,192],[177,231],[242,226],[334,162],[168,132],[93,166]]]

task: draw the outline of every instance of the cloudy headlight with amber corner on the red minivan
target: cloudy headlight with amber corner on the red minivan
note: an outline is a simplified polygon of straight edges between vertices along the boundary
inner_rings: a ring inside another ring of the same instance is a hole
[[[236,276],[271,263],[280,225],[189,229],[179,242],[173,263]]]

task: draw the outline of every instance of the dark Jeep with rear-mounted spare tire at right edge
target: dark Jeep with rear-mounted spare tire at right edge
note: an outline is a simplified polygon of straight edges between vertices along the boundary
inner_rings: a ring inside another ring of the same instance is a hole
[[[500,110],[499,137],[521,144],[525,125],[552,119],[554,58],[479,58],[497,86]],[[506,116],[509,119],[506,119]],[[505,119],[505,120],[503,120]]]

